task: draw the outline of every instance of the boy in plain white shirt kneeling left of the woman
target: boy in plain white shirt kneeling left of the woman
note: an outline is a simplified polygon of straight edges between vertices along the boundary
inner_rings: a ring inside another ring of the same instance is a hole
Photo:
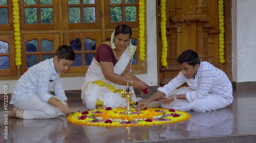
[[[9,117],[20,119],[50,119],[78,109],[69,108],[67,97],[60,82],[60,73],[68,70],[75,59],[70,46],[60,46],[54,58],[30,67],[14,87],[10,104],[14,108]],[[49,88],[52,87],[54,95]]]

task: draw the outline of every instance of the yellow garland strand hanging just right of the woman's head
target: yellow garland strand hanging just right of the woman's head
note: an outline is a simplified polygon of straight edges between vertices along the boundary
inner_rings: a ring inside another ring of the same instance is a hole
[[[140,61],[145,60],[145,2],[144,0],[139,0],[139,48],[140,48]]]

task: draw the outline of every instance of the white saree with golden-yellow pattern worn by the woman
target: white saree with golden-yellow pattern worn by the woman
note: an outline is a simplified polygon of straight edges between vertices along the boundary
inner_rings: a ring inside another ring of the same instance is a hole
[[[135,50],[136,46],[133,46],[133,54]],[[121,75],[133,58],[133,54],[129,54],[127,49],[125,49],[114,66],[114,73]],[[134,90],[133,87],[129,88],[130,92]],[[101,71],[100,64],[94,58],[82,85],[81,99],[88,109],[126,107],[126,99],[121,95],[125,89],[126,86],[124,85],[118,85],[106,80]],[[131,106],[137,101],[136,95],[133,94],[132,101],[130,102]]]

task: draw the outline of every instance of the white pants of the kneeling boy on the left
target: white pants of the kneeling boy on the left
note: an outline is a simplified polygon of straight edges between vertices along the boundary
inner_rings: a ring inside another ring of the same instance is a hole
[[[62,103],[66,105],[64,101]],[[16,116],[20,119],[50,119],[65,115],[59,108],[42,102],[37,95],[27,101],[14,103],[13,106],[18,108]]]

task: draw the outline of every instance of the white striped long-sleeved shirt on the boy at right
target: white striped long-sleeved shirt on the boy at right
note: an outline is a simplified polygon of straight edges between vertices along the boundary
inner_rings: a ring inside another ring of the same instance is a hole
[[[189,102],[205,98],[208,94],[217,96],[224,105],[229,105],[233,101],[232,84],[227,75],[208,62],[201,62],[195,78],[187,79],[180,71],[168,84],[157,90],[168,96],[173,90],[185,82],[190,89],[195,90],[186,93],[186,99]]]

